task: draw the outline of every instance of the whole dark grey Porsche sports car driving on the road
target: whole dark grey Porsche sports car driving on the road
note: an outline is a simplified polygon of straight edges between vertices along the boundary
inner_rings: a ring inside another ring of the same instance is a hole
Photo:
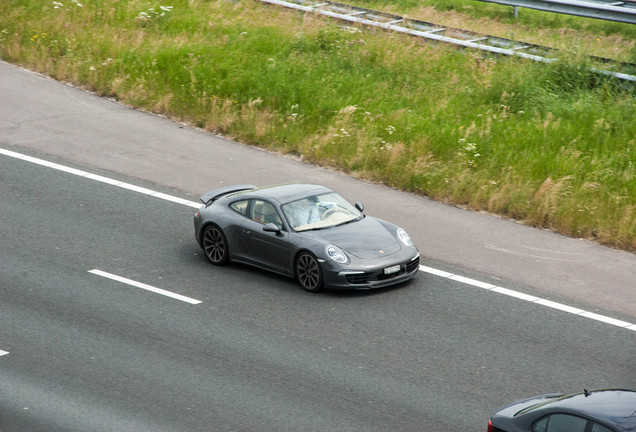
[[[234,185],[201,197],[194,236],[212,264],[250,264],[302,287],[368,289],[407,281],[420,254],[400,227],[312,184]]]

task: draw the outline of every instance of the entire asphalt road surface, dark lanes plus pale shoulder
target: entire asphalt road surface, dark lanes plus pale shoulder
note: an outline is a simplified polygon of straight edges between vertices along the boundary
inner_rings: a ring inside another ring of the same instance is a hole
[[[1,148],[188,200],[237,180],[331,185],[405,226],[427,266],[636,322],[632,254],[359,182],[2,63],[0,91]],[[633,330],[425,272],[394,289],[311,295],[209,265],[187,205],[4,155],[0,194],[3,432],[483,431],[524,396],[636,388]]]

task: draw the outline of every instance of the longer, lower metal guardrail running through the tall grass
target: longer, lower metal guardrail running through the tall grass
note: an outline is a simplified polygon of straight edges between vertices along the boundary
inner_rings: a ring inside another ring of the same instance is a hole
[[[439,26],[425,21],[373,11],[358,6],[334,3],[328,0],[259,1],[495,54],[522,57],[544,63],[551,63],[558,59],[558,51],[547,47]],[[621,80],[636,82],[636,65],[596,57],[594,59],[597,63],[601,63],[602,67],[591,68],[592,71]]]

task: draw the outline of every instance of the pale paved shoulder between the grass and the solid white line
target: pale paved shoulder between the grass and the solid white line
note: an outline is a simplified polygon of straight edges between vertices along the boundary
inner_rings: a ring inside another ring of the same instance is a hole
[[[0,145],[179,190],[294,181],[334,187],[403,226],[444,265],[636,318],[636,255],[436,203],[141,113],[0,62]],[[589,306],[589,307],[588,307]]]

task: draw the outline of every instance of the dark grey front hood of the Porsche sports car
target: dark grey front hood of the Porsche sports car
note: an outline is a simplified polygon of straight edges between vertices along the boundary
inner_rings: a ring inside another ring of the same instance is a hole
[[[378,219],[365,216],[341,226],[303,233],[338,246],[361,259],[389,256],[400,250],[395,235]]]

